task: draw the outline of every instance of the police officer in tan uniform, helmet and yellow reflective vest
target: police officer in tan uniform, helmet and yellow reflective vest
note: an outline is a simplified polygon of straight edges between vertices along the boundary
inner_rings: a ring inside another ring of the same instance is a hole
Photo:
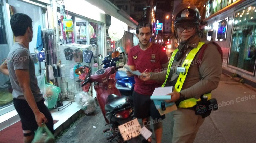
[[[165,81],[163,87],[173,86],[173,91],[168,94],[171,100],[166,100],[175,102],[178,107],[178,110],[171,112],[172,143],[193,143],[204,122],[205,116],[202,114],[208,112],[205,106],[197,109],[196,101],[202,101],[202,98],[210,100],[211,91],[218,87],[222,73],[222,52],[216,43],[199,38],[200,14],[194,5],[179,4],[173,11],[173,18],[174,34],[180,43],[172,54],[168,69],[159,73],[145,73],[140,78],[144,81]]]

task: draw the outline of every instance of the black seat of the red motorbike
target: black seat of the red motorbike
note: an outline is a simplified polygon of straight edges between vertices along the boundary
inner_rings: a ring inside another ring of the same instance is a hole
[[[117,96],[115,94],[110,94],[106,100],[105,110],[107,112],[113,111],[118,108],[124,108],[124,106],[127,106],[127,105],[130,105],[127,98],[122,96]]]

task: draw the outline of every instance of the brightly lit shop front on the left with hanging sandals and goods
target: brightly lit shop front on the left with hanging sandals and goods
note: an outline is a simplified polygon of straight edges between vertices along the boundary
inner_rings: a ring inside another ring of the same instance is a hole
[[[93,2],[95,1],[90,1],[90,3]],[[111,49],[111,52],[109,52],[111,54],[117,47],[127,46],[129,49],[134,45],[134,33],[128,30],[128,26],[135,29],[136,21],[131,21],[127,14],[125,16],[124,14],[120,15],[117,12],[118,8],[108,2],[104,5],[101,5],[102,3],[95,4],[100,4],[102,10],[90,3],[85,0],[76,0],[76,3],[73,0],[58,1],[56,3],[55,1],[50,2],[50,0],[0,0],[0,59],[3,62],[8,58],[7,55],[15,42],[15,37],[10,32],[12,31],[10,26],[12,14],[27,14],[33,20],[34,37],[29,44],[29,50],[31,54],[37,57],[35,58],[35,73],[38,76],[38,82],[45,85],[42,93],[46,99],[48,98],[48,91],[56,99],[51,108],[47,105],[49,109],[64,106],[66,108],[70,104],[58,105],[57,99],[58,101],[62,100],[59,98],[61,96],[63,100],[70,103],[74,101],[74,95],[84,90],[79,83],[79,80],[80,82],[83,80],[79,79],[79,76],[75,74],[75,68],[87,65],[91,68],[91,73],[94,74],[96,70],[101,68],[102,59],[100,58],[104,58],[108,54],[108,49]],[[63,5],[65,5],[65,9],[63,9]],[[106,33],[108,31],[106,29],[105,11],[111,16],[119,17],[118,19],[114,17],[112,19],[115,20],[114,22],[122,23],[124,27],[126,36],[121,40],[113,41],[107,39]],[[122,19],[122,21],[119,19]],[[40,31],[38,31],[39,25],[41,26],[43,42],[43,48],[40,50],[36,49],[37,37],[40,34]],[[113,48],[112,44],[115,45]],[[93,55],[89,62],[81,58],[82,56],[80,56],[79,60],[77,59],[79,58],[77,53],[84,53],[84,51]],[[67,54],[70,55],[67,56]],[[72,58],[69,59],[70,57]],[[44,81],[44,76],[46,81]],[[12,104],[10,84],[4,84],[9,81],[9,77],[0,72],[0,79],[1,116],[14,111],[14,106]],[[42,82],[39,79],[43,79]],[[39,85],[40,88],[42,84]],[[56,95],[53,92],[53,88],[58,89]],[[88,92],[93,92],[92,89]],[[55,105],[58,105],[58,107]],[[17,115],[17,112],[15,114]],[[7,120],[3,121],[7,122]],[[5,124],[3,125],[4,122],[0,122],[0,130],[6,127]]]

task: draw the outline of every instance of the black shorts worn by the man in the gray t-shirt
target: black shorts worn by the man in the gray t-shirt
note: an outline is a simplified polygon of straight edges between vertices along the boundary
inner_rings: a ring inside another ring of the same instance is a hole
[[[22,129],[23,130],[31,130],[32,133],[34,133],[35,130],[37,130],[38,125],[35,121],[35,115],[28,105],[28,102],[26,100],[22,99],[13,99],[13,105],[16,109],[16,111],[19,114],[20,121],[22,123]],[[37,102],[37,107],[40,112],[44,114],[44,116],[47,118],[48,123],[46,123],[46,126],[48,129],[54,134],[53,131],[53,118],[51,116],[51,113],[49,112],[48,108],[44,104],[44,99]]]

